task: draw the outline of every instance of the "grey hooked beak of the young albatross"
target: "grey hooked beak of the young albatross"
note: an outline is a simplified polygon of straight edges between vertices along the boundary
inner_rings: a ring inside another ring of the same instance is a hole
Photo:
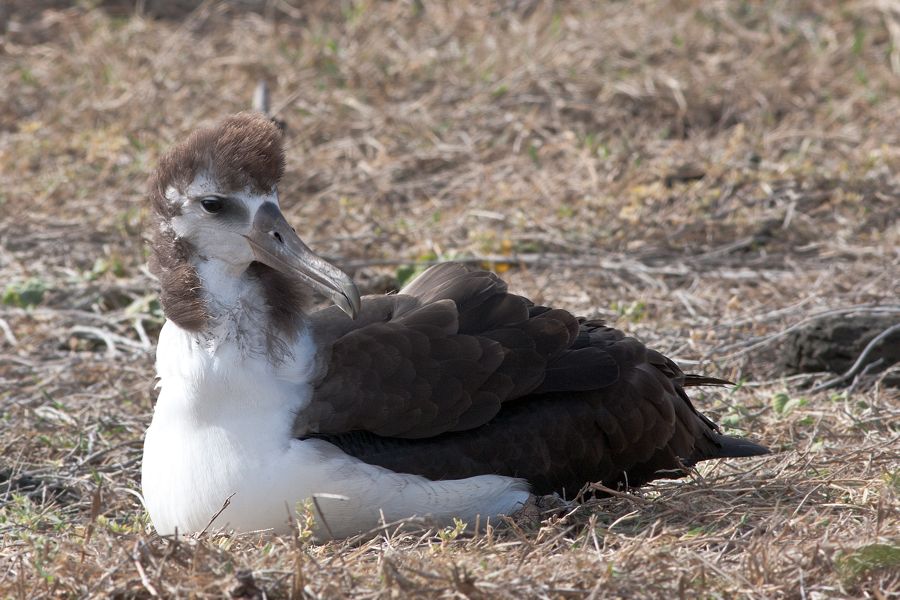
[[[353,280],[310,250],[274,203],[259,207],[253,228],[244,237],[256,260],[285,275],[299,277],[331,298],[351,319],[359,314],[359,290]]]

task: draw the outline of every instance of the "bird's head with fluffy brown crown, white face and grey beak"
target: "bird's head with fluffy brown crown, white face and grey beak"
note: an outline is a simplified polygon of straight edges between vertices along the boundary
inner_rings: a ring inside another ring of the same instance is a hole
[[[293,322],[310,290],[356,316],[353,281],[314,254],[281,214],[283,172],[280,131],[251,113],[195,131],[163,156],[150,185],[157,220],[151,268],[170,320],[203,329],[217,295],[248,280],[260,284],[276,320]]]

